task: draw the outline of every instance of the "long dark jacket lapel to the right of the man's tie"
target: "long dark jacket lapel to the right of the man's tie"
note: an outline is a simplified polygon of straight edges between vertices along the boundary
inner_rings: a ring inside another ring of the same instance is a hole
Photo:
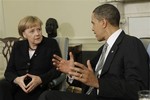
[[[117,40],[115,41],[115,43],[113,44],[113,46],[106,58],[106,61],[104,63],[101,76],[108,71],[108,69],[115,57],[115,54],[117,53],[117,50],[119,49],[119,44],[121,43],[124,36],[125,36],[125,33],[124,33],[124,31],[122,31],[121,34],[119,35],[119,37],[117,38]]]

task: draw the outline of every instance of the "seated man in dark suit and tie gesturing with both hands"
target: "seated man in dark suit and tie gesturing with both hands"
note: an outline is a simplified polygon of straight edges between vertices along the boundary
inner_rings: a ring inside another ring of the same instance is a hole
[[[139,39],[119,28],[119,21],[115,6],[103,4],[95,8],[92,30],[98,41],[108,44],[102,68],[97,71],[104,46],[87,61],[87,66],[74,62],[72,53],[68,61],[54,55],[53,64],[58,70],[83,83],[83,94],[48,91],[40,100],[138,100],[138,91],[148,89],[149,57]]]

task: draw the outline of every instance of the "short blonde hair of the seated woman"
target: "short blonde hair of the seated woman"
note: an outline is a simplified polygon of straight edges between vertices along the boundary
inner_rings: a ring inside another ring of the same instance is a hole
[[[23,32],[28,29],[35,26],[42,26],[43,22],[36,16],[26,16],[23,19],[20,20],[18,24],[18,32],[21,37],[23,37]]]

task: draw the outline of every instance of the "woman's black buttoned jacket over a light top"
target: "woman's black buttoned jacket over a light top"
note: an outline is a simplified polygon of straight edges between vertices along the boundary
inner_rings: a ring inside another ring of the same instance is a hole
[[[58,77],[58,72],[52,64],[53,54],[61,56],[57,41],[43,37],[32,58],[29,58],[29,43],[27,40],[18,41],[14,44],[5,78],[13,82],[18,76],[27,73],[40,76],[43,87],[52,79]]]

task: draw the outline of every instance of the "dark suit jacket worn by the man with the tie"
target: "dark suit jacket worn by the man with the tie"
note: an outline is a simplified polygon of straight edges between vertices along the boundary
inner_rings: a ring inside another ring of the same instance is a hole
[[[93,70],[102,52],[91,60]],[[100,98],[138,100],[138,91],[148,89],[149,57],[142,42],[123,31],[112,46],[99,81]]]

